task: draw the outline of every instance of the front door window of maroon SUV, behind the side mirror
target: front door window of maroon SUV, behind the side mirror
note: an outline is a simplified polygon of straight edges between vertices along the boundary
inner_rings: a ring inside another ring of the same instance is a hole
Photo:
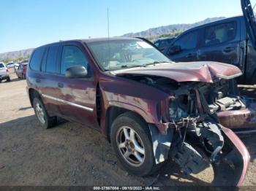
[[[80,48],[72,45],[64,46],[61,55],[61,74],[71,66],[84,66],[88,70],[88,61]]]

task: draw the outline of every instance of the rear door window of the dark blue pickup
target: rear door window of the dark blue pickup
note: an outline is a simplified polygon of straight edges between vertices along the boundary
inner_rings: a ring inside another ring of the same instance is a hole
[[[208,26],[205,30],[204,45],[214,45],[229,42],[236,38],[236,22]]]

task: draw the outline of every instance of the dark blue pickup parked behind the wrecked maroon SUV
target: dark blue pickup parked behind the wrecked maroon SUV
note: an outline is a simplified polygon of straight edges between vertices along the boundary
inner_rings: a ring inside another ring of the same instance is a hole
[[[239,83],[256,84],[256,51],[247,36],[243,16],[189,29],[174,40],[165,55],[176,62],[230,63],[243,71]]]

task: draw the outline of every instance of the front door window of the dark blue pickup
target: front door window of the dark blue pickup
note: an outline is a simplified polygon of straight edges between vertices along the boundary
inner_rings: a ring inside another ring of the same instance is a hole
[[[184,34],[173,44],[174,46],[181,47],[181,50],[191,50],[197,47],[198,31],[191,31]]]

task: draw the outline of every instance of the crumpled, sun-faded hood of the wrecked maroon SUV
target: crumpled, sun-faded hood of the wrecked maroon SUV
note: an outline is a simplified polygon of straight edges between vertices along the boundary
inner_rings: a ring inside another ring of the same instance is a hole
[[[242,75],[238,67],[217,62],[160,63],[132,69],[113,71],[112,74],[159,76],[174,79],[177,82],[214,82],[214,79],[233,79]]]

